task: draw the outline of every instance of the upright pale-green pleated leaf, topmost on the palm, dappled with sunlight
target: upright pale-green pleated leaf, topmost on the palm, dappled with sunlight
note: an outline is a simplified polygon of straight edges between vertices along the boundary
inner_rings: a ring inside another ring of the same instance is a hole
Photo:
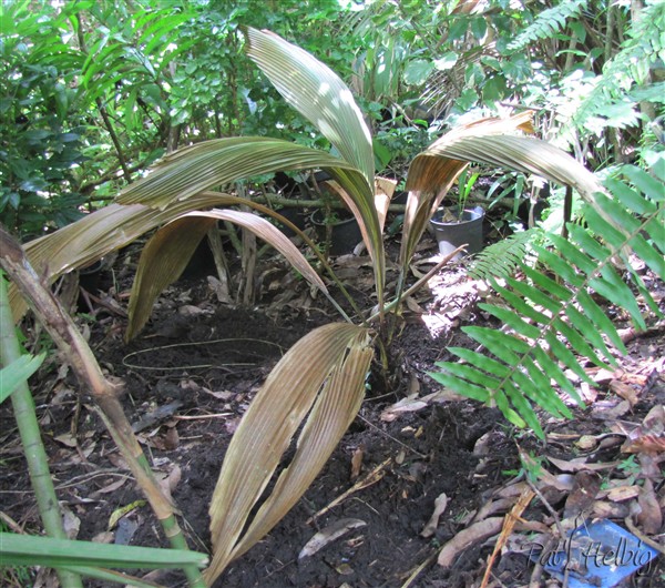
[[[326,64],[270,31],[248,28],[246,52],[270,83],[374,186],[371,135],[354,95]]]

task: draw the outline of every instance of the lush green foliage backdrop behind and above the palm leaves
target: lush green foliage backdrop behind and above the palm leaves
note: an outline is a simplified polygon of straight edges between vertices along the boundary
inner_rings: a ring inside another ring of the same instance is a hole
[[[241,26],[297,41],[339,73],[375,131],[379,168],[395,175],[451,124],[509,103],[533,109],[542,135],[593,169],[662,161],[662,2],[9,0],[1,10],[0,220],[24,236],[80,217],[192,142],[326,148],[250,67]]]

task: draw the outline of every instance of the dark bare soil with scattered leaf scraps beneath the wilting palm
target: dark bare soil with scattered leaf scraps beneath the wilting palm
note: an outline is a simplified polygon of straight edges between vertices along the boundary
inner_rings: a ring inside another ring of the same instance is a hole
[[[436,245],[426,237],[420,261],[427,264],[433,253]],[[282,354],[314,327],[337,318],[324,301],[311,300],[301,282],[294,282],[278,261],[268,257],[258,272],[266,277],[253,306],[219,303],[205,277],[190,276],[161,296],[147,327],[125,344],[122,333],[126,320],[122,313],[129,286],[119,270],[123,263],[119,260],[116,273],[109,273],[106,282],[94,291],[98,300],[80,323],[90,332],[102,367],[124,382],[126,414],[149,459],[182,509],[181,526],[191,547],[208,551],[208,503],[242,415]],[[337,268],[342,276],[352,276],[347,281],[362,298],[360,303],[371,303],[366,287],[371,281],[367,260],[339,258]],[[109,280],[112,275],[115,281]],[[546,442],[509,426],[497,409],[450,395],[432,396],[441,386],[428,373],[436,369],[436,362],[451,357],[447,347],[473,347],[460,326],[490,322],[478,307],[485,295],[466,277],[462,262],[409,302],[390,349],[390,377],[380,376],[375,366],[358,417],[315,483],[267,537],[229,566],[215,587],[478,587],[497,544],[497,533],[466,545],[450,567],[439,566],[437,557],[441,546],[483,518],[483,507],[495,505],[492,516],[499,517],[511,511],[520,491],[528,488],[520,455],[561,460],[585,457],[596,465],[630,458],[622,452],[625,435],[612,437],[610,425],[622,422],[626,423],[625,430],[634,430],[664,403],[662,372],[649,373],[631,409],[613,420],[592,407],[576,409],[573,420],[543,415]],[[645,363],[656,365],[663,348],[663,331],[635,338],[622,368],[634,374]],[[662,362],[659,365],[662,368]],[[45,366],[33,383],[53,479],[72,535],[79,539],[166,546],[149,507],[136,503],[142,495],[92,403],[84,395],[78,396],[75,389],[72,376],[54,363]],[[424,398],[419,409],[391,409],[412,396]],[[613,408],[621,399],[605,383],[595,405]],[[22,529],[38,533],[39,518],[8,405],[1,407],[0,508]],[[620,442],[600,444],[586,453],[575,445],[582,438],[604,439],[603,435]],[[571,476],[551,462],[543,460],[543,467],[554,476]],[[627,477],[616,465],[608,466],[603,475],[605,481]],[[359,481],[365,485],[329,507]],[[652,481],[662,508],[662,472],[659,479]],[[433,533],[423,537],[434,503],[442,495],[447,508]],[[521,540],[513,537],[500,550],[489,586],[521,587],[530,581],[533,586],[560,586],[549,574],[541,570],[542,576],[538,575],[530,555],[542,540],[538,533],[555,527],[556,519],[563,518],[570,495],[552,490],[535,496],[525,506],[522,518],[531,527],[519,528],[514,536]],[[500,499],[504,500],[503,508],[498,504]],[[110,528],[112,514],[127,505],[136,508]],[[607,518],[618,517],[613,513],[614,517]],[[345,535],[314,555],[298,557],[317,531],[344,524],[345,519],[352,519]],[[664,586],[664,572],[661,559],[624,580],[623,586]],[[47,585],[44,575],[37,585]],[[167,587],[186,585],[176,572],[151,577]],[[11,576],[6,577],[7,586],[12,585],[11,580]]]

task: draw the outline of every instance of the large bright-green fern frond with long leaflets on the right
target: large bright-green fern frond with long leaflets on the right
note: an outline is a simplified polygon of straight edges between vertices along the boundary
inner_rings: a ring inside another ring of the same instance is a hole
[[[605,217],[585,205],[581,213],[586,225],[571,223],[570,241],[549,235],[549,247],[533,245],[539,270],[520,261],[523,278],[504,277],[502,284],[489,278],[503,304],[480,306],[499,318],[502,328],[464,327],[485,351],[450,348],[463,365],[436,364],[442,369],[431,374],[436,381],[498,406],[511,423],[530,426],[541,437],[536,407],[571,417],[554,386],[577,404],[582,401],[564,371],[593,385],[584,371],[586,361],[610,367],[616,364],[616,353],[626,353],[598,298],[623,308],[638,328],[646,328],[627,278],[649,310],[662,316],[631,261],[636,256],[656,276],[665,276],[665,179],[632,166],[623,173],[632,186],[611,180],[606,186],[613,197],[598,194]]]

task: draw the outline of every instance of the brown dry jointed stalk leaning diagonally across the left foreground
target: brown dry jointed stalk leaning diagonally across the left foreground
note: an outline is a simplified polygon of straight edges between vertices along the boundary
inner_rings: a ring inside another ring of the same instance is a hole
[[[183,550],[188,549],[175,519],[174,507],[153,475],[117,399],[116,386],[104,377],[94,354],[76,330],[72,318],[64,312],[58,298],[41,284],[34,270],[28,263],[20,244],[2,227],[0,227],[0,250],[2,251],[0,265],[20,290],[30,308],[48,331],[61,353],[68,358],[80,384],[94,398],[102,422],[150,501],[172,547]],[[3,330],[3,332],[6,331]],[[9,331],[12,331],[12,328]],[[205,587],[201,571],[196,566],[185,566],[184,572],[192,587]]]

